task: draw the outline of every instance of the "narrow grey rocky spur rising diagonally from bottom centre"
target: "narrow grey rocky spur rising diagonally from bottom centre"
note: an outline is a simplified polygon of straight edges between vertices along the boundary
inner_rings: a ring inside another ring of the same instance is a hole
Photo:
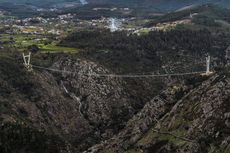
[[[122,132],[86,152],[124,152],[130,145],[140,139],[149,126],[156,123],[160,116],[164,114],[166,111],[165,103],[160,97],[155,97],[127,123]]]

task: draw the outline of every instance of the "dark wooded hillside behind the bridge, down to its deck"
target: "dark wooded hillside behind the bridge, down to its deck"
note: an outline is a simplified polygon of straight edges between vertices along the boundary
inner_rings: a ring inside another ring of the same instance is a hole
[[[204,70],[207,53],[223,64],[229,35],[203,28],[152,31],[141,36],[86,30],[70,34],[60,45],[77,47],[81,57],[119,74],[178,73]]]

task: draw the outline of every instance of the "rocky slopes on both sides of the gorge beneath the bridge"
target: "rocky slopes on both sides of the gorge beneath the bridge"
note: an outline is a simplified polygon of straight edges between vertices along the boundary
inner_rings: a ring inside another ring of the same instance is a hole
[[[111,73],[94,62],[60,59],[51,67],[59,72],[27,72],[8,60],[0,65],[0,150],[6,153],[230,150],[227,71],[172,83],[145,103],[152,92],[137,91],[139,84],[130,86],[135,81],[92,75]]]

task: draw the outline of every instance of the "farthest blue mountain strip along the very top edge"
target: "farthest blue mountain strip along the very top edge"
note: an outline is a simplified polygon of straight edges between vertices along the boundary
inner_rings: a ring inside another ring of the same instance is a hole
[[[80,0],[0,0],[0,3],[1,2],[47,7],[62,2],[80,2]],[[89,2],[89,4],[115,4],[125,7],[157,8],[165,11],[176,10],[189,5],[200,5],[204,3],[215,3],[225,7],[230,7],[229,0],[87,0],[87,2]]]

